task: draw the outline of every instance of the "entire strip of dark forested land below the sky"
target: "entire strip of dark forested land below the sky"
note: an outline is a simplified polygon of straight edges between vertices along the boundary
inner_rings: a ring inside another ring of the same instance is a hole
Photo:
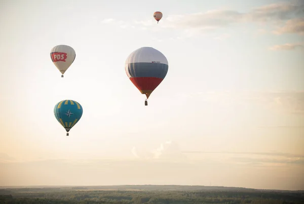
[[[304,191],[217,186],[61,186],[0,189],[0,204],[303,204]]]

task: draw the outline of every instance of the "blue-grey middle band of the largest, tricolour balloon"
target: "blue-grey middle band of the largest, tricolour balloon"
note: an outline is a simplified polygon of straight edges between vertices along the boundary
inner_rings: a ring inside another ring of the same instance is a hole
[[[129,63],[127,71],[131,77],[157,77],[164,79],[168,72],[168,65],[148,62]]]

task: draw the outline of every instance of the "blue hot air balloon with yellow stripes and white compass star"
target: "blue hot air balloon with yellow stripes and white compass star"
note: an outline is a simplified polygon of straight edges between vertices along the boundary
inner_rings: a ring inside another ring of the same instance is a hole
[[[66,130],[66,136],[68,136],[70,129],[78,123],[82,113],[82,106],[73,100],[60,101],[54,107],[54,115],[58,122]]]

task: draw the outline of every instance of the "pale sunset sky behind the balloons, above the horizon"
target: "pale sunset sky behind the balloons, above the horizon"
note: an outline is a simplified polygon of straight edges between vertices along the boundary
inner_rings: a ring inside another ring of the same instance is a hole
[[[148,106],[125,72],[141,47],[169,63]],[[0,186],[304,190],[303,56],[302,1],[2,0]],[[83,107],[69,137],[65,99]]]

